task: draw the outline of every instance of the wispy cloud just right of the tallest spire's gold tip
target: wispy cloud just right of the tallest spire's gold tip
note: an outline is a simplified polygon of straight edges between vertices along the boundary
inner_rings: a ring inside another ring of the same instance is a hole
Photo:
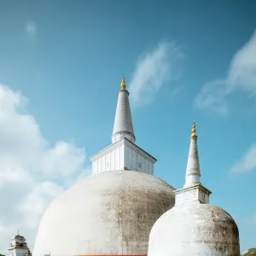
[[[154,94],[163,84],[171,79],[178,79],[181,73],[177,64],[183,58],[181,49],[167,42],[160,43],[155,49],[144,54],[137,61],[137,68],[129,86],[132,105],[152,102]]]

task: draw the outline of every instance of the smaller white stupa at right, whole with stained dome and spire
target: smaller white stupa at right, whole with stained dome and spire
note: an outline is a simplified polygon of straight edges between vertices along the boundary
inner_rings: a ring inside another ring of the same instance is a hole
[[[183,189],[174,191],[175,207],[154,224],[148,256],[239,256],[239,233],[234,219],[209,205],[210,190],[201,185],[195,122]]]

